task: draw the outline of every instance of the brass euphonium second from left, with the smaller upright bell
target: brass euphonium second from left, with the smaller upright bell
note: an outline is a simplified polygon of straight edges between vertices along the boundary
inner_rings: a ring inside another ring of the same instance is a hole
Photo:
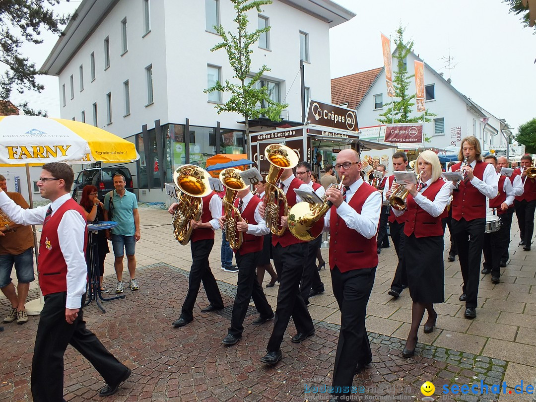
[[[244,234],[236,230],[236,222],[242,220],[242,215],[234,206],[236,194],[248,188],[240,176],[240,170],[227,168],[221,171],[220,180],[225,186],[224,216],[225,216],[225,239],[233,250],[238,250],[244,241]]]

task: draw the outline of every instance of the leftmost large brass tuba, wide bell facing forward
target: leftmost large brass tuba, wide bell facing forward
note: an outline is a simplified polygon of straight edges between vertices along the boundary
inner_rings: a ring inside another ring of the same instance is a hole
[[[182,165],[173,173],[173,183],[180,193],[178,207],[173,215],[173,234],[182,245],[188,244],[193,228],[190,220],[198,221],[203,212],[202,197],[212,192],[210,174],[196,165]]]

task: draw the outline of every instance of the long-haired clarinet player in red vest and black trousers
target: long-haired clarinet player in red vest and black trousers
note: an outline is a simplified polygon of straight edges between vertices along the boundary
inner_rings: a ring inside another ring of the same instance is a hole
[[[493,165],[483,162],[478,138],[461,140],[458,160],[451,172],[460,172],[464,179],[452,193],[451,235],[455,237],[464,279],[460,301],[465,301],[465,318],[477,316],[480,261],[486,228],[486,197],[497,196],[498,177]],[[467,163],[462,165],[461,161]],[[453,186],[455,187],[455,186]]]

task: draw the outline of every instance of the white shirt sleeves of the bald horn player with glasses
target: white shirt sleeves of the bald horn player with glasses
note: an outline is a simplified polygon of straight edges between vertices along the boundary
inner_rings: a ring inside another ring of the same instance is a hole
[[[367,197],[361,209],[361,213],[355,211],[348,205],[352,196],[359,190],[363,184],[363,179],[360,177],[358,181],[350,185],[349,190],[346,190],[346,201],[337,208],[337,214],[343,219],[351,229],[366,237],[372,239],[378,231],[379,214],[382,210],[382,195],[379,191],[374,191]],[[330,230],[331,209],[327,211],[324,217],[324,232]]]

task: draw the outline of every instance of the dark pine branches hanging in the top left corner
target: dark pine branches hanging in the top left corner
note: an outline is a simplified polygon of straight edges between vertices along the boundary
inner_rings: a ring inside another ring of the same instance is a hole
[[[69,0],[67,0],[69,1]],[[39,71],[28,57],[21,53],[24,42],[41,44],[39,38],[42,29],[61,34],[71,16],[60,16],[53,11],[59,0],[1,0],[0,1],[0,63],[5,71],[0,75],[0,100],[9,101],[11,92],[25,90],[41,92],[42,84],[36,81]],[[0,102],[0,111],[4,114],[16,110],[9,102]],[[46,116],[44,110],[33,110],[28,102],[18,107],[26,114]]]

